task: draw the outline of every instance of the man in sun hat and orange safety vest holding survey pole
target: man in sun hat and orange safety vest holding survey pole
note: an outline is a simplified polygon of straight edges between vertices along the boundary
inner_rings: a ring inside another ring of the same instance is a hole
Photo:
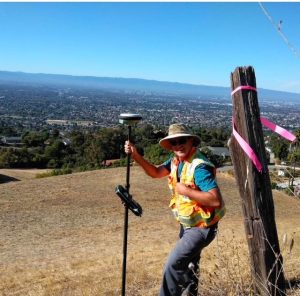
[[[164,268],[160,296],[196,296],[200,254],[215,238],[224,202],[214,165],[197,149],[200,138],[184,124],[172,124],[159,144],[174,153],[160,166],[144,159],[126,141],[125,152],[153,178],[168,177],[170,208],[180,223],[179,240]]]

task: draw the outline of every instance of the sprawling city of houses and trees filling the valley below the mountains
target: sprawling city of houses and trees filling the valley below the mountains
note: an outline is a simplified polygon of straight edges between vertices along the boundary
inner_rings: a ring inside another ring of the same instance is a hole
[[[300,104],[260,102],[261,114],[289,130],[300,128]],[[118,125],[120,113],[139,113],[143,123],[183,122],[203,128],[231,129],[231,98],[109,92],[83,88],[0,86],[0,126],[24,130],[95,129]],[[1,135],[1,133],[0,133]],[[2,132],[3,135],[3,132]]]

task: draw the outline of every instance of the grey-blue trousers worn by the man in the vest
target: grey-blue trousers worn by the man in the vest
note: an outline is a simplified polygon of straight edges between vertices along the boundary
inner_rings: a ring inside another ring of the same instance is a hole
[[[217,226],[210,228],[183,228],[179,240],[170,253],[164,268],[160,296],[196,296],[200,254],[217,233]]]

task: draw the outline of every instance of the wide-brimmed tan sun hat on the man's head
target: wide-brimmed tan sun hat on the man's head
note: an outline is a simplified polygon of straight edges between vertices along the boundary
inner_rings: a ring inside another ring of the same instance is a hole
[[[170,139],[175,139],[179,137],[190,137],[194,139],[194,146],[200,144],[200,138],[196,135],[193,135],[189,128],[183,123],[174,123],[169,127],[168,136],[159,141],[159,145],[167,150],[172,150],[172,145],[170,144]]]

